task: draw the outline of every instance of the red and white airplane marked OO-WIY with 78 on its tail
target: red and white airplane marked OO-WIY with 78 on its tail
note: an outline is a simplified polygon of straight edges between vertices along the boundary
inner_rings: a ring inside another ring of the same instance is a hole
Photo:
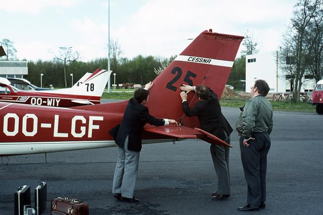
[[[0,102],[51,107],[73,107],[100,104],[111,71],[96,69],[86,73],[72,88],[45,91],[21,91],[0,77]]]

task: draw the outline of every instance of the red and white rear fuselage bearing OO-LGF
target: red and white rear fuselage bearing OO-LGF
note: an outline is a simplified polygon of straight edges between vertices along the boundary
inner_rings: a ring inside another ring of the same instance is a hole
[[[109,130],[121,122],[126,102],[101,104],[95,112],[0,102],[0,156],[114,147]],[[155,137],[145,135],[144,142],[160,142]]]

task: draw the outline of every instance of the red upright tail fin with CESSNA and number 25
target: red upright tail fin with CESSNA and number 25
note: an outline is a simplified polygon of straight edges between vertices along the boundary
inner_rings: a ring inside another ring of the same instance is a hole
[[[183,125],[199,127],[197,117],[187,117],[182,111],[180,86],[204,84],[222,96],[233,66],[242,36],[202,32],[153,81],[146,106],[150,114],[180,121]],[[189,106],[197,101],[188,94]]]

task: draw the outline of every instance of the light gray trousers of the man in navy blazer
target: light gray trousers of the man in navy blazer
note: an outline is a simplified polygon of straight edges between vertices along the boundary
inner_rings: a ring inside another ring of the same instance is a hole
[[[140,152],[128,150],[128,136],[124,148],[118,146],[118,161],[113,178],[113,193],[132,198],[137,181]]]

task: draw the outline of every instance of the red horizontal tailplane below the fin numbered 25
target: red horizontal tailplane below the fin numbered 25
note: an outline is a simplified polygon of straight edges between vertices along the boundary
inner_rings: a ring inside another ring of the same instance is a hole
[[[169,125],[159,127],[145,126],[144,131],[181,139],[201,139],[208,142],[209,144],[216,144],[220,146],[233,148],[231,145],[227,144],[222,139],[200,128],[190,128],[183,125]]]

